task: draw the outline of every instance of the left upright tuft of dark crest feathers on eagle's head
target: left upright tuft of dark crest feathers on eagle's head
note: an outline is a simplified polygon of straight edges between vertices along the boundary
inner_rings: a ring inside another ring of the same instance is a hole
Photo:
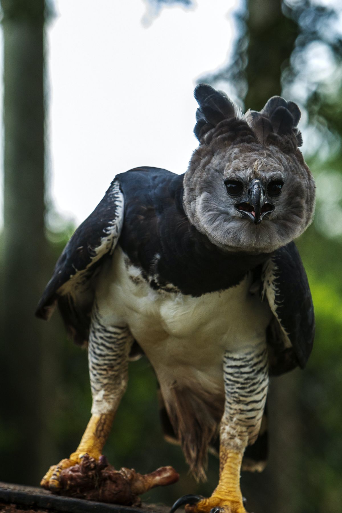
[[[200,141],[203,135],[220,121],[237,116],[237,107],[223,91],[216,91],[208,84],[199,84],[194,92],[198,102],[194,133]]]

